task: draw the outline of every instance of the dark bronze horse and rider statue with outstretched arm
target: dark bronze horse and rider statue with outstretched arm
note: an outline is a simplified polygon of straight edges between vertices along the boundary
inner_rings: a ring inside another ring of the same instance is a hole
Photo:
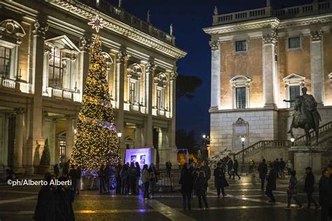
[[[319,122],[321,116],[317,111],[317,102],[311,94],[307,94],[307,87],[302,87],[303,95],[296,97],[292,100],[284,100],[285,102],[294,103],[293,120],[291,122],[291,128],[287,134],[291,134],[293,137],[293,128],[302,128],[305,131],[306,143],[305,145],[311,145],[310,129],[313,129],[316,134],[316,141],[318,145],[319,134]]]

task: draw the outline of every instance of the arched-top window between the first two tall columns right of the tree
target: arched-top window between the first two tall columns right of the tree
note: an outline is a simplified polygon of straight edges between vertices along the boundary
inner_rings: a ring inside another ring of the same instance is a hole
[[[131,64],[127,69],[128,77],[128,101],[130,104],[139,103],[139,80],[143,71],[137,63]]]

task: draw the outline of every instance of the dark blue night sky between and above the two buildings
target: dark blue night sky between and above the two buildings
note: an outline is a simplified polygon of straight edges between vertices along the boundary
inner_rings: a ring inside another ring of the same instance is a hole
[[[117,0],[111,2],[118,3]],[[271,0],[273,8],[311,2]],[[210,37],[202,28],[212,26],[214,6],[218,7],[219,14],[225,14],[261,8],[265,4],[265,0],[123,0],[123,8],[141,19],[145,20],[146,12],[150,10],[151,23],[163,31],[168,32],[172,23],[177,47],[188,52],[177,64],[178,73],[202,79],[203,83],[193,100],[181,98],[177,101],[177,129],[194,129],[196,138],[209,133],[211,50]]]

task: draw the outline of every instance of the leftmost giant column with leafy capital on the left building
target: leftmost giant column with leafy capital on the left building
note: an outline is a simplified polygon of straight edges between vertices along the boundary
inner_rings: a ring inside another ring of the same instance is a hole
[[[34,22],[34,36],[32,41],[32,90],[34,93],[32,104],[32,116],[30,121],[29,139],[27,141],[27,169],[26,173],[34,173],[34,167],[39,164],[41,157],[35,154],[36,147],[43,147],[42,136],[42,110],[43,110],[43,55],[45,45],[45,33],[48,24],[42,20]],[[42,149],[42,148],[40,148]],[[39,150],[42,152],[42,150]]]

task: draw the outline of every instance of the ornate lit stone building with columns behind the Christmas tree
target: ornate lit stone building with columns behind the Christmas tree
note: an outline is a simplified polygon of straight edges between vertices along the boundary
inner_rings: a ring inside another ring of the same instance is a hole
[[[70,157],[95,36],[108,66],[121,154],[154,147],[160,162],[175,148],[175,37],[106,0],[0,2],[0,169],[33,173],[46,139],[51,164]],[[176,158],[173,158],[176,160]]]

